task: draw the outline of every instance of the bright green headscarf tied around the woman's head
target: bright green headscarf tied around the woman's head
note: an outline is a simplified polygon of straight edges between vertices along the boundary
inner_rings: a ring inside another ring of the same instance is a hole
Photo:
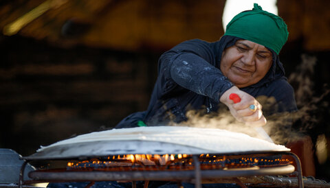
[[[252,11],[241,12],[234,16],[228,23],[224,35],[250,40],[278,54],[287,42],[289,32],[281,17],[264,11],[261,6],[254,3]]]

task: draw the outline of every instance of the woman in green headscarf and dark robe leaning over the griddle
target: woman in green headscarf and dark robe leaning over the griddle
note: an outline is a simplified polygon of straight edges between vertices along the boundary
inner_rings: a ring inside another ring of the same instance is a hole
[[[253,10],[234,16],[220,40],[188,40],[162,54],[148,110],[129,115],[115,128],[186,121],[187,110],[216,112],[219,103],[237,120],[263,126],[266,119],[256,100],[261,95],[276,99],[278,113],[297,110],[278,58],[287,37],[283,19],[254,3]],[[235,104],[231,93],[241,102]]]

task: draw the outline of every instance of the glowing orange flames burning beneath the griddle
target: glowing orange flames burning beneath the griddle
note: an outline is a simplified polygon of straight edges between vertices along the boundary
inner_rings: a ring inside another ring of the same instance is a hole
[[[67,163],[68,169],[109,169],[113,167],[147,167],[157,169],[170,169],[176,166],[186,169],[193,169],[191,154],[124,154],[113,155],[100,158],[91,158],[89,161],[78,161]],[[199,163],[203,169],[225,169],[233,167],[267,166],[267,165],[287,165],[292,163],[283,158],[263,158],[245,156],[226,156],[200,154]],[[177,166],[179,165],[179,166]],[[120,169],[118,169],[120,170]]]

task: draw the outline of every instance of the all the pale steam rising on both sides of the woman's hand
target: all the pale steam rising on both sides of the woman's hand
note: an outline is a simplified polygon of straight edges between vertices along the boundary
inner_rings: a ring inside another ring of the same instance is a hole
[[[321,96],[315,96],[314,93],[315,64],[315,57],[303,55],[302,62],[296,67],[296,71],[289,76],[288,81],[294,87],[298,111],[294,113],[274,113],[278,109],[274,97],[260,96],[256,98],[263,106],[264,115],[272,114],[266,116],[267,124],[263,128],[270,134],[274,143],[285,144],[301,139],[327,113],[326,110],[328,110],[329,104],[325,97],[329,96],[329,89],[325,89]],[[180,124],[172,122],[171,126],[219,128],[233,132],[243,132],[252,137],[261,138],[254,128],[236,121],[227,107],[223,104],[220,105],[222,106],[219,106],[220,110],[217,113],[207,114],[205,110],[189,110],[186,113],[187,121]]]

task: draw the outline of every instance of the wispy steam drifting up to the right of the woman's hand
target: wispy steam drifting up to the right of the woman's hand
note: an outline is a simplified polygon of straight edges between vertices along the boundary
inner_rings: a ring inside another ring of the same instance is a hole
[[[298,141],[309,134],[325,119],[329,103],[329,89],[325,84],[322,95],[317,96],[314,88],[314,68],[316,57],[301,56],[302,62],[289,75],[288,82],[294,87],[298,111],[294,113],[274,113],[267,117],[267,132],[275,143]],[[276,109],[276,101],[267,97],[257,98],[263,110]]]

